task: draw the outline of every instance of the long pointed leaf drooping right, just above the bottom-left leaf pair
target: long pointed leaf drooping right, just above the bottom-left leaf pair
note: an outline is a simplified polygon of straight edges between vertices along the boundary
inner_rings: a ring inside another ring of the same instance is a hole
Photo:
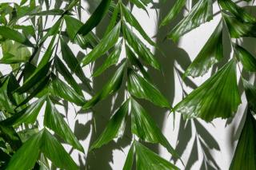
[[[46,112],[43,120],[43,125],[52,129],[54,132],[61,136],[63,140],[71,144],[74,148],[77,148],[81,152],[84,152],[82,145],[79,143],[70,127],[64,121],[61,113],[55,108],[52,101],[48,97],[46,100]]]

